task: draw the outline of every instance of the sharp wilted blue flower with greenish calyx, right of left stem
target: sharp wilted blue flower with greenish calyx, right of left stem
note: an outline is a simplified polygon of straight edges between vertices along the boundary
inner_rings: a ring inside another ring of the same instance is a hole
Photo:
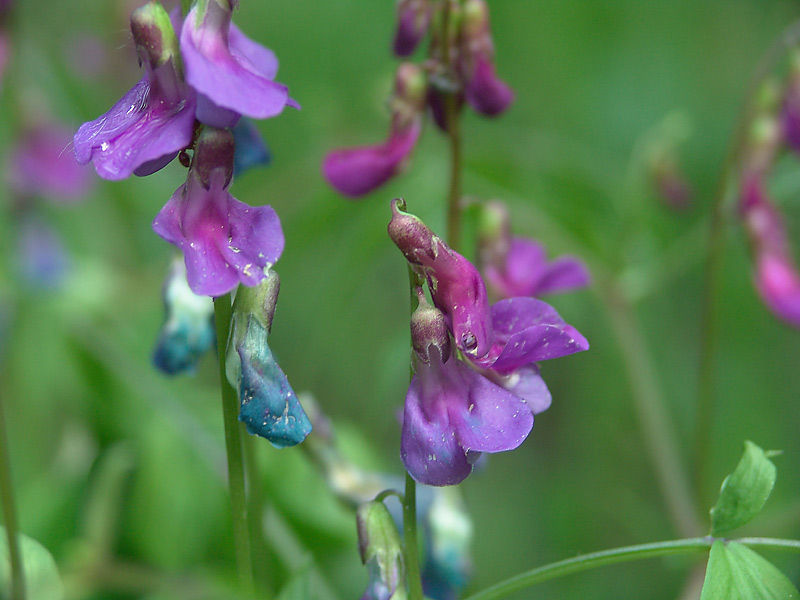
[[[311,422],[267,345],[279,289],[272,270],[257,287],[239,288],[226,362],[228,381],[239,391],[239,420],[251,434],[286,448],[306,438]]]

